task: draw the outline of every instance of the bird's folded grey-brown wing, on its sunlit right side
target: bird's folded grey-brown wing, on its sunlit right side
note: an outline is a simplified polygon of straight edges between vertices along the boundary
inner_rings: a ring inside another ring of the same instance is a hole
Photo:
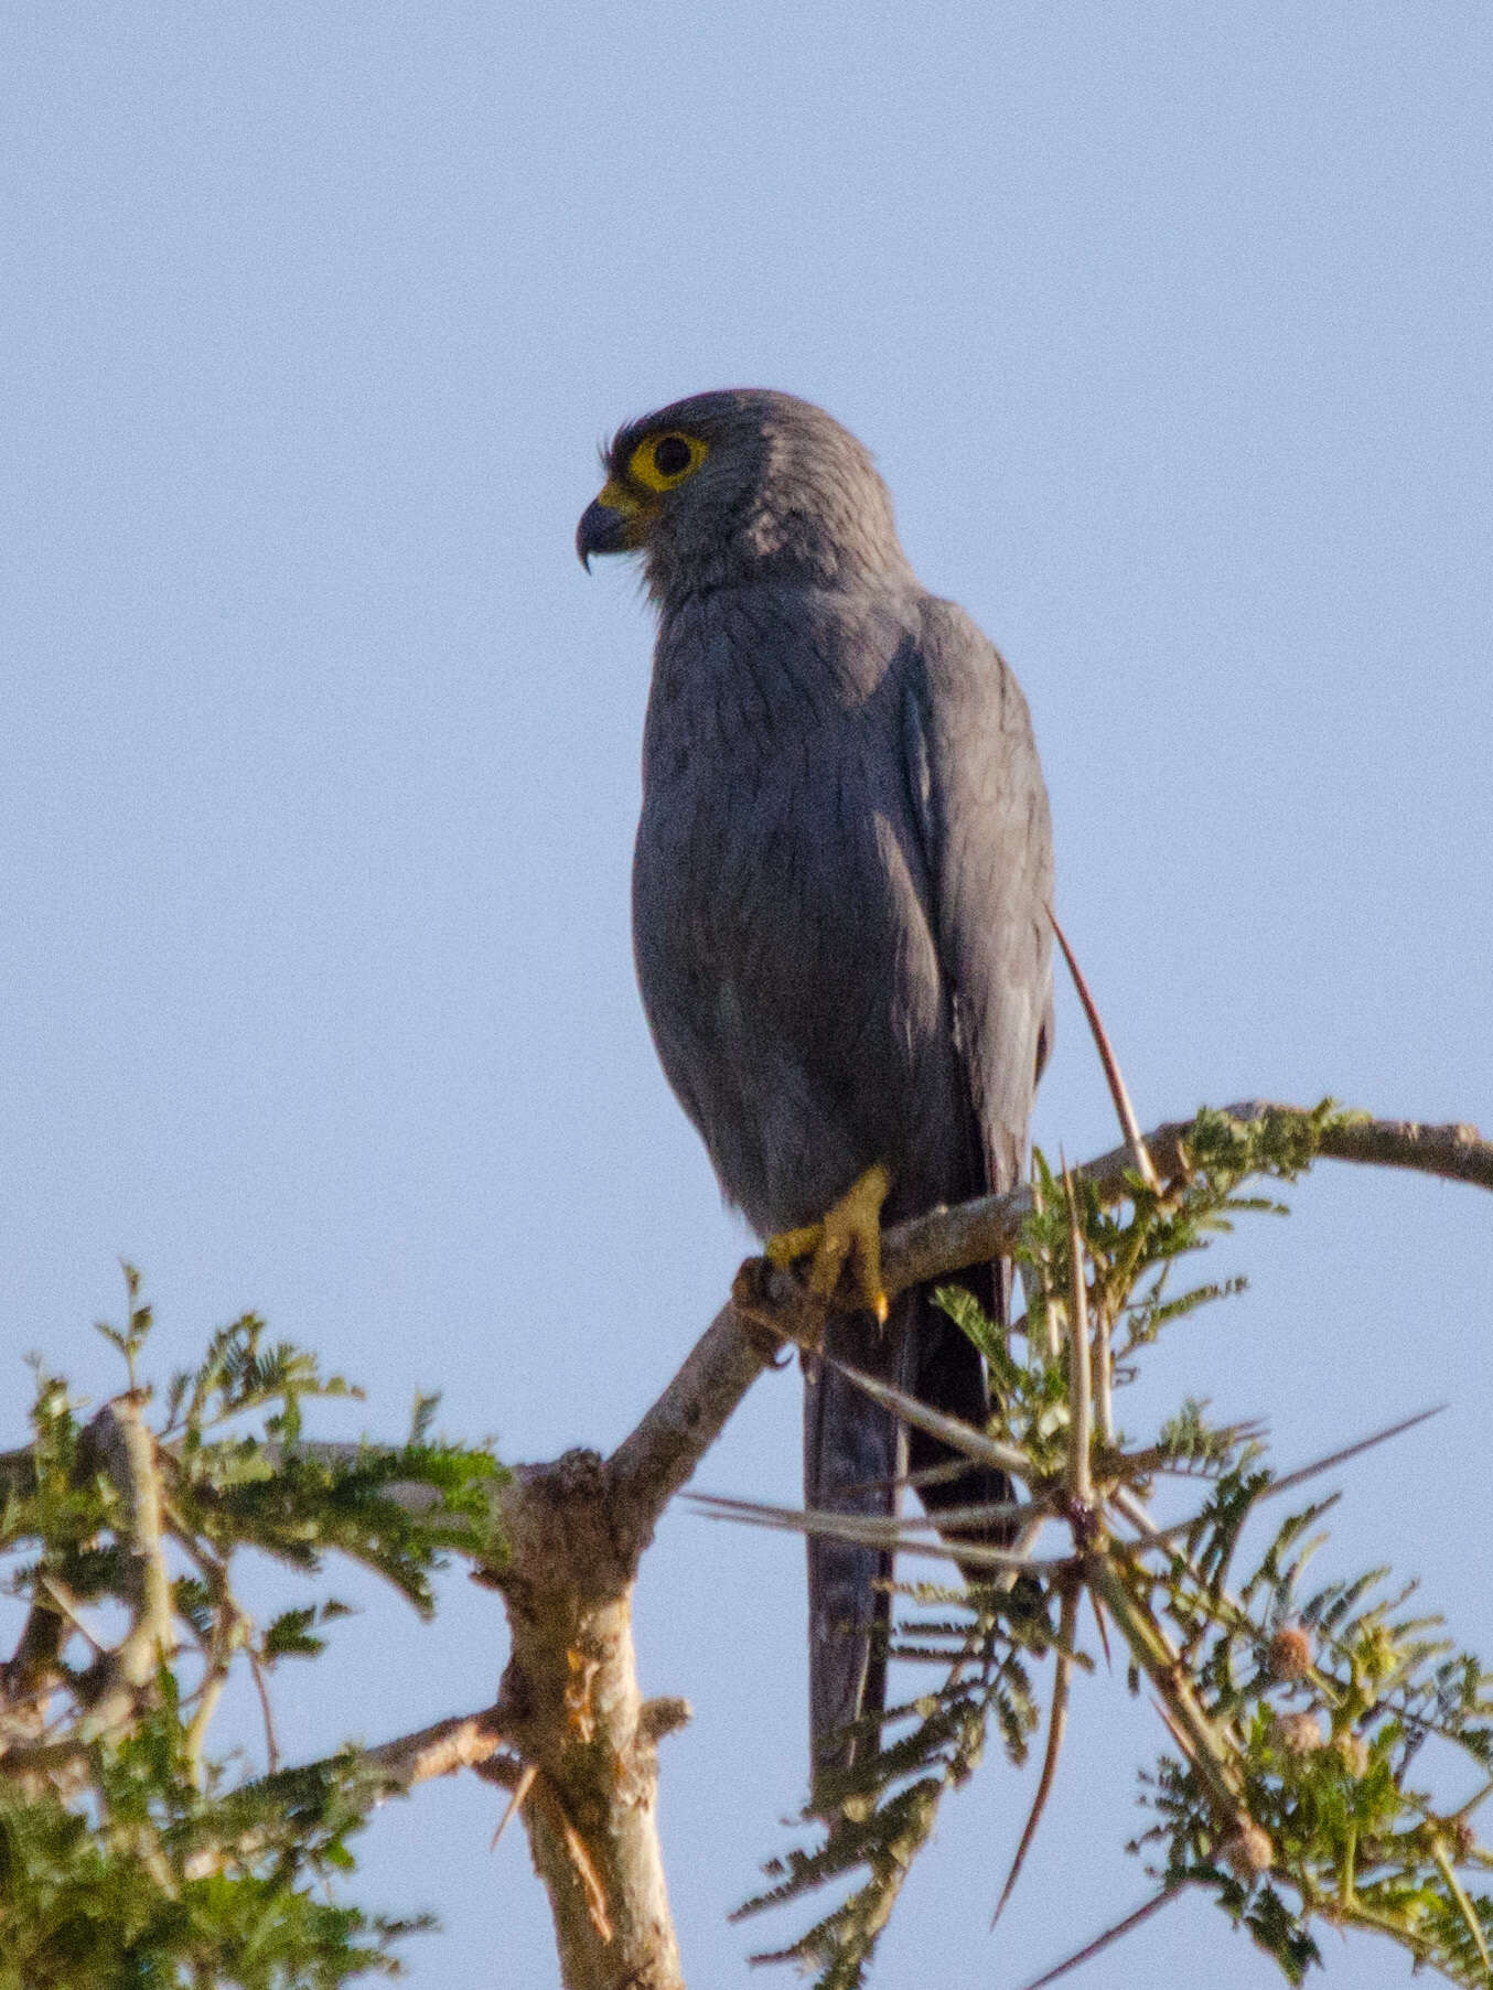
[[[1053,1035],[1053,834],[1021,687],[950,601],[924,601],[904,752],[985,1180],[1003,1190]]]

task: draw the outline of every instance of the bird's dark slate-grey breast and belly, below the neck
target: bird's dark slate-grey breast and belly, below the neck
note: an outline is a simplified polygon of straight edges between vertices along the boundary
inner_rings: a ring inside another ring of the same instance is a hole
[[[944,989],[892,687],[798,696],[754,653],[729,698],[703,691],[655,677],[637,971],[727,1194],[780,1226],[890,1158]]]

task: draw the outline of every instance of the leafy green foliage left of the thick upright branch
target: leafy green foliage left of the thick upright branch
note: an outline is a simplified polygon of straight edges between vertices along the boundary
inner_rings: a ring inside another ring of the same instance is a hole
[[[0,1990],[322,1990],[396,1974],[426,1926],[342,1904],[350,1839],[392,1793],[366,1757],[253,1777],[209,1751],[231,1676],[261,1690],[315,1658],[346,1606],[315,1598],[259,1630],[233,1590],[245,1548],[315,1574],[328,1552],[418,1610],[448,1552],[492,1558],[488,1453],[434,1441],[311,1445],[301,1407],[352,1391],[271,1345],[247,1313],[175,1375],[151,1429],[149,1307],[102,1327],[129,1391],[84,1421],[38,1367],[32,1441],[0,1457],[0,1556],[24,1626],[0,1672]],[[125,1630],[119,1630],[119,1624]],[[275,1739],[267,1725],[271,1763]]]

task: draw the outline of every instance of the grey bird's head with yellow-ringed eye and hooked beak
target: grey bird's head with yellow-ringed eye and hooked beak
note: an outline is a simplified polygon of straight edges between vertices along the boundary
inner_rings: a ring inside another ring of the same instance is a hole
[[[764,579],[910,577],[870,454],[792,394],[677,400],[619,430],[601,464],[575,551],[587,567],[593,553],[641,553],[657,601]]]

